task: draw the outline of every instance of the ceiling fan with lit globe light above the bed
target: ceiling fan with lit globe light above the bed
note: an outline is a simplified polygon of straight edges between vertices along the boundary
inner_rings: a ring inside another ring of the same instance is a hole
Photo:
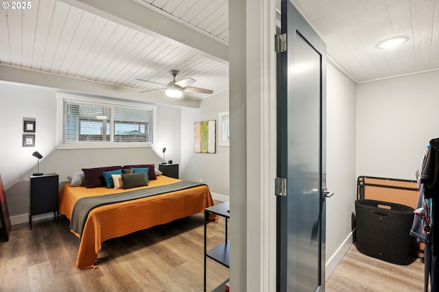
[[[183,96],[183,92],[195,92],[195,93],[204,93],[204,94],[212,94],[213,93],[213,90],[208,90],[208,89],[204,89],[204,88],[194,88],[194,87],[188,86],[188,85],[191,85],[192,83],[195,82],[195,79],[193,79],[191,77],[176,81],[176,76],[178,75],[179,72],[180,72],[179,70],[170,70],[169,74],[171,74],[172,77],[174,77],[174,80],[170,81],[167,84],[144,80],[144,79],[136,79],[136,80],[150,82],[150,83],[156,83],[156,84],[160,84],[160,85],[165,86],[165,88],[156,88],[153,90],[145,90],[142,92],[149,92],[149,91],[156,91],[156,90],[163,90],[164,89],[166,96],[169,96],[169,97],[180,98]]]

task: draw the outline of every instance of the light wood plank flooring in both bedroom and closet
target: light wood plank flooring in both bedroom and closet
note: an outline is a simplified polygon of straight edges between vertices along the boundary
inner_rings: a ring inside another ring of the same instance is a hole
[[[98,269],[76,269],[78,239],[69,221],[12,226],[0,242],[0,291],[202,291],[204,215],[104,242]],[[208,248],[224,241],[224,218],[208,224]],[[208,259],[207,290],[229,277]],[[423,291],[423,263],[394,265],[353,245],[326,282],[327,292]]]

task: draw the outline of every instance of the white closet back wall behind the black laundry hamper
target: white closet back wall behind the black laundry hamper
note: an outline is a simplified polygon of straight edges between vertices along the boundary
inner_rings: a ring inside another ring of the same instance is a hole
[[[439,137],[439,70],[357,85],[357,176],[415,179]]]

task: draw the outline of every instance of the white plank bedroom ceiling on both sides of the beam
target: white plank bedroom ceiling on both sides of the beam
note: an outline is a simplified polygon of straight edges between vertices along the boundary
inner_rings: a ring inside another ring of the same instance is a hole
[[[215,0],[215,3],[215,10],[224,11],[227,23],[227,1]],[[213,25],[211,20],[206,23],[206,19],[199,17],[200,10],[206,12],[211,8],[188,7],[192,8],[182,9],[185,8],[182,6],[173,11],[209,32],[219,31],[218,35],[227,40],[224,15]],[[0,64],[139,90],[163,86],[137,79],[167,84],[172,80],[169,70],[176,69],[180,70],[177,80],[186,77],[196,80],[191,86],[215,93],[228,88],[226,62],[217,62],[62,1],[34,0],[28,10],[3,9],[0,39]],[[203,98],[206,94],[185,93],[185,96]]]

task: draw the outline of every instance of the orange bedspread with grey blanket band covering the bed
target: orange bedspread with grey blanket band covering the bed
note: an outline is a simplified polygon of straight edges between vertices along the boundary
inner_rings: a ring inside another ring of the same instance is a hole
[[[179,189],[177,186],[180,184],[185,187]],[[171,191],[166,191],[168,187],[171,187]],[[157,193],[154,194],[154,191]],[[133,195],[141,192],[150,193],[143,197],[140,195],[139,198]],[[120,199],[124,196],[128,197],[128,200]],[[89,207],[88,211],[82,212],[83,220],[75,219],[78,217],[77,209],[80,202],[97,202],[101,199],[109,202],[97,203]],[[201,213],[206,207],[211,206],[213,200],[207,185],[195,182],[188,185],[187,181],[163,174],[150,179],[147,186],[129,189],[74,185],[71,180],[62,185],[59,195],[59,212],[71,221],[71,231],[80,239],[76,261],[76,267],[79,269],[97,267],[97,253],[101,250],[102,243],[108,239]],[[83,223],[77,228],[73,226],[74,222],[77,225],[78,222]]]

